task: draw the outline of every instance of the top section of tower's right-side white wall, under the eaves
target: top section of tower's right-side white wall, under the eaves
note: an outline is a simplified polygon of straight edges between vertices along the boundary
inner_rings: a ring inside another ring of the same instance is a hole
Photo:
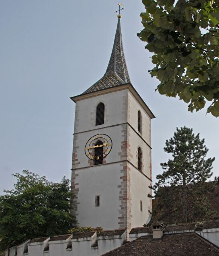
[[[133,94],[128,91],[128,122],[137,131],[139,135],[151,146],[151,119]],[[138,111],[141,111],[142,116],[142,133],[138,132]]]

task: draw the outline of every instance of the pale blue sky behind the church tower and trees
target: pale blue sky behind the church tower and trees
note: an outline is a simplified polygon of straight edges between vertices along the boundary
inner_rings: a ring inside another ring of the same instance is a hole
[[[117,0],[0,0],[0,194],[11,189],[12,173],[29,169],[54,182],[70,178],[74,102],[104,74],[117,26]],[[123,45],[131,82],[154,112],[153,178],[166,139],[176,127],[200,132],[216,157],[219,175],[219,119],[206,110],[189,113],[187,104],[155,92],[147,70],[151,54],[136,33],[142,29],[141,0],[123,0]]]

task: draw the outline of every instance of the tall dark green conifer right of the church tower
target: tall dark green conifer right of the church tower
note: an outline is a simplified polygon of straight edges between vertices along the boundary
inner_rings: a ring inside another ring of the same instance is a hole
[[[163,173],[154,185],[156,204],[153,215],[166,222],[201,221],[210,218],[208,195],[214,182],[206,182],[212,175],[215,158],[207,158],[205,140],[194,135],[192,129],[176,128],[173,138],[166,140],[164,151],[172,159],[161,163]]]

